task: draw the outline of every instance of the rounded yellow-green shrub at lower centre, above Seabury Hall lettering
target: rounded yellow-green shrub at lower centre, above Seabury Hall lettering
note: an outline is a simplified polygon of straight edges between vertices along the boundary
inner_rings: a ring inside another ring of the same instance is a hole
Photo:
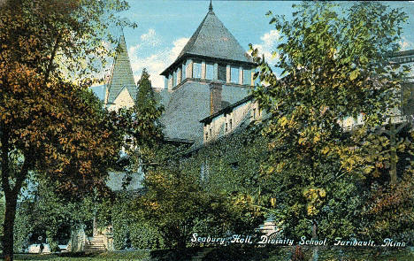
[[[197,175],[184,173],[176,164],[150,170],[145,186],[147,191],[136,198],[134,212],[141,212],[157,227],[167,248],[185,249],[192,233],[215,234],[215,226],[236,220],[228,219],[235,211],[229,209],[234,206],[225,196],[209,195]]]

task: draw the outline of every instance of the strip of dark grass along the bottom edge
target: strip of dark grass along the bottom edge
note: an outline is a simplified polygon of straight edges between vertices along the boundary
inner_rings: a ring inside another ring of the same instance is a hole
[[[263,248],[263,249],[240,249],[240,248],[217,248],[204,259],[206,261],[288,261],[292,257],[292,248]],[[152,260],[190,260],[197,249],[188,249],[188,254],[180,253],[173,255],[169,250],[115,251],[100,254],[63,253],[63,254],[16,254],[14,260],[56,260],[56,261],[149,261]],[[303,248],[303,259],[311,260],[311,248]],[[187,257],[185,257],[187,256]],[[319,249],[319,261],[413,261],[413,249]]]

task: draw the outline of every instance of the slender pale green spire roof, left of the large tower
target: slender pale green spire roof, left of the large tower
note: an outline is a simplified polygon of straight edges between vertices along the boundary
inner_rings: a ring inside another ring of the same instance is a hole
[[[137,89],[126,51],[125,37],[122,33],[112,65],[111,78],[106,88],[104,104],[113,104],[124,88],[126,88],[132,99],[135,100]]]

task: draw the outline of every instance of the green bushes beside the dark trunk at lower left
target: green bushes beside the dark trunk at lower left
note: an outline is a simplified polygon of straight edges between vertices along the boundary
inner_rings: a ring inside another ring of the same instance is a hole
[[[15,251],[24,251],[39,235],[51,251],[57,251],[59,241],[69,239],[71,232],[93,219],[92,209],[99,209],[100,214],[108,209],[106,197],[96,202],[97,193],[68,199],[59,196],[58,187],[56,181],[38,180],[30,194],[20,197],[13,231]]]

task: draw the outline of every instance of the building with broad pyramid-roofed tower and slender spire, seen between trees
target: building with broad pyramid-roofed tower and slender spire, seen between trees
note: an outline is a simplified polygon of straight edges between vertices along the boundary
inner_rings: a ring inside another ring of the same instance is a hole
[[[414,61],[413,57],[414,50],[410,50],[395,55],[394,60],[410,63]],[[211,173],[214,170],[214,166],[209,166],[208,158],[204,156],[210,156],[210,151],[203,151],[203,148],[212,144],[226,144],[228,142],[218,141],[234,136],[251,122],[265,117],[253,97],[249,96],[249,90],[254,85],[254,70],[255,64],[219,20],[210,4],[206,16],[178,58],[161,73],[165,76],[165,86],[157,89],[157,92],[165,106],[161,119],[165,125],[165,139],[191,146],[188,154],[198,154],[195,158],[200,163],[202,179],[209,175],[209,170]],[[412,83],[409,86],[412,96]],[[122,35],[110,81],[104,90],[103,103],[109,110],[130,107],[134,105],[136,93],[137,86]],[[351,128],[362,123],[362,116],[344,119],[342,127]],[[226,152],[226,157],[229,157],[227,162],[230,162],[226,172],[235,173],[234,177],[241,176],[237,172],[249,174],[245,173],[243,164],[257,163],[261,155],[251,157],[251,163],[241,163],[238,155],[243,153],[242,144],[234,147],[237,148],[231,149],[233,152]],[[110,173],[109,187],[120,190],[122,177],[122,173]],[[127,189],[142,188],[142,179],[143,174],[137,173]],[[110,230],[104,230],[103,234],[94,234],[95,237],[89,242],[96,242],[96,238],[100,237],[104,247],[112,249],[111,233]]]

